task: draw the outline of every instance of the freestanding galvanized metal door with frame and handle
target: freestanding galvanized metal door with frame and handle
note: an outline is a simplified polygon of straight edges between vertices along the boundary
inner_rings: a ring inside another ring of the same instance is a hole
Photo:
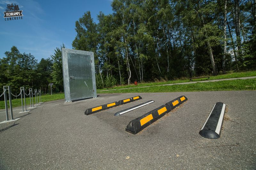
[[[62,48],[66,102],[96,98],[93,52]]]

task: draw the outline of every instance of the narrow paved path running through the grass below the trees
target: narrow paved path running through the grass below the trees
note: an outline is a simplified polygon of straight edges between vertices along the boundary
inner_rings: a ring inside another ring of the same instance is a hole
[[[244,79],[249,79],[249,78],[256,78],[256,76],[253,76],[253,77],[240,77],[240,78],[226,78],[226,79],[218,79],[218,80],[193,81],[193,82],[186,82],[186,83],[166,84],[166,85],[186,85],[186,84],[192,84],[192,83],[205,83],[205,82],[215,82],[215,81],[224,81],[224,80],[237,80],[237,79],[242,79],[242,80],[244,80]],[[163,86],[163,85],[150,85],[150,86],[142,86],[142,87],[122,88],[122,89],[99,90],[99,91],[97,91],[97,92],[112,91],[112,90],[133,89],[133,88],[143,88],[143,87],[152,87],[152,86]]]

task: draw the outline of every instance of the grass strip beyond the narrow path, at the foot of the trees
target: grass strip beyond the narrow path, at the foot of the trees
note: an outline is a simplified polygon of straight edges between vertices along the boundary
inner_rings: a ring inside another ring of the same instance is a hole
[[[205,75],[207,76],[207,75]],[[202,76],[202,77],[205,77]],[[226,78],[239,78],[239,77],[252,77],[256,76],[256,71],[247,71],[247,72],[229,72],[227,74],[218,75],[218,76],[210,76],[209,80],[217,80],[217,79],[226,79]],[[203,80],[208,80],[208,78],[203,78]],[[193,79],[192,81],[202,81],[201,78]],[[178,80],[170,80],[170,81],[162,81],[162,82],[148,82],[148,83],[138,83],[137,87],[143,87],[143,86],[152,86],[152,85],[166,85],[166,84],[174,84],[174,83],[185,83],[190,82],[189,78],[182,78]],[[121,88],[129,88],[129,87],[135,87],[134,84],[132,85],[122,85],[122,86],[116,86],[111,89],[121,89]],[[97,91],[100,90],[109,90],[107,88],[104,89],[97,89]]]

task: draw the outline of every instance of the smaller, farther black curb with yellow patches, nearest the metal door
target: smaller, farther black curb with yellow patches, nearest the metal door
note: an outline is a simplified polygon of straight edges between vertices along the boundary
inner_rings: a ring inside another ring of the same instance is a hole
[[[108,103],[108,104],[88,108],[88,109],[85,110],[84,115],[91,115],[93,113],[97,113],[97,112],[100,112],[102,110],[109,109],[111,107],[116,107],[116,106],[126,104],[126,103],[129,103],[129,102],[135,101],[135,100],[140,100],[140,99],[142,99],[140,96],[135,96],[135,97],[131,97],[131,98],[128,98],[128,99],[119,100],[118,102],[114,101],[112,103]]]

